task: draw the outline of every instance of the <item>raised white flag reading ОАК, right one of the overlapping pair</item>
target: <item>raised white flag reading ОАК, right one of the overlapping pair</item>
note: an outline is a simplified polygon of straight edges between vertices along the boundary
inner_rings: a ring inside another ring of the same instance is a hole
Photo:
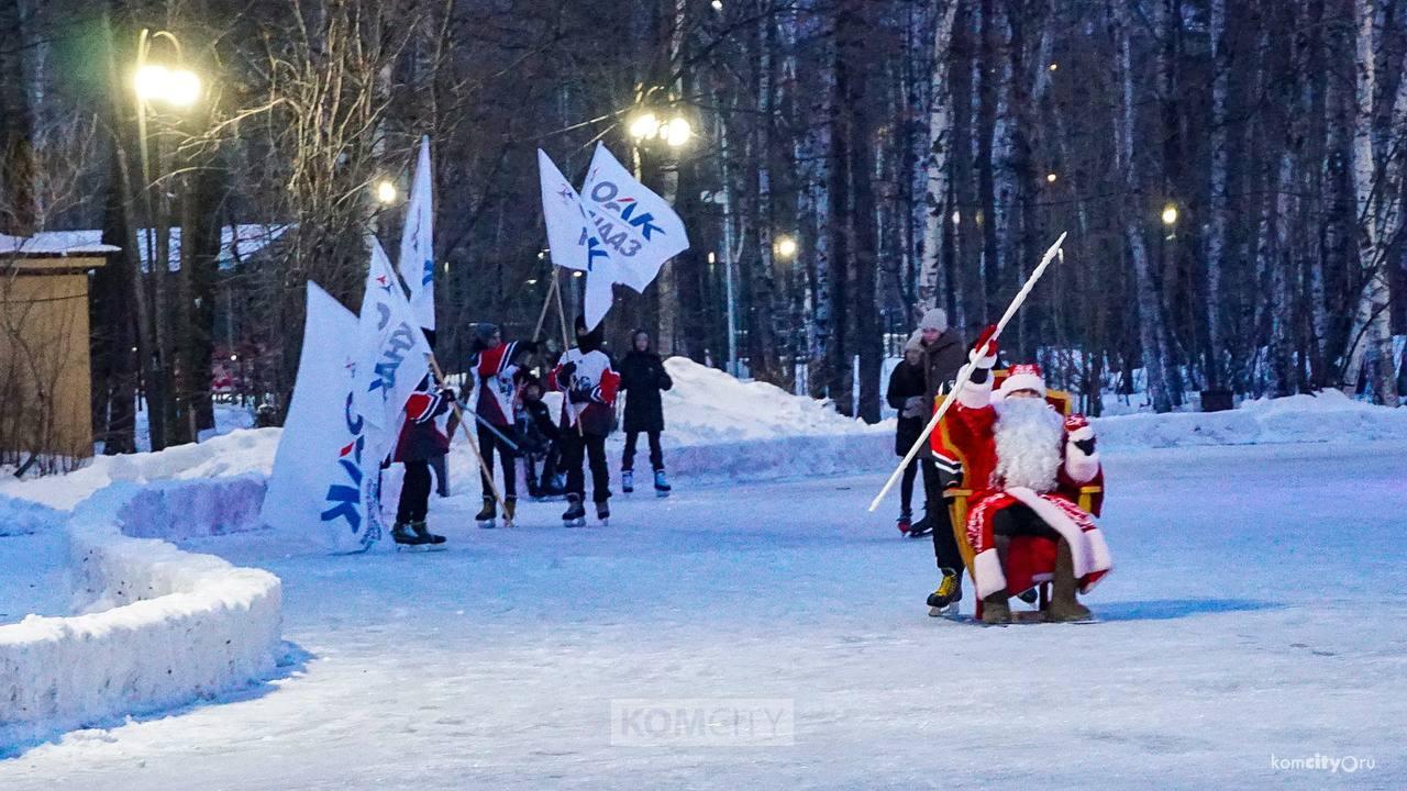
[[[636,291],[644,291],[664,262],[689,248],[674,208],[636,182],[605,145],[597,144],[581,203],[616,265],[615,281]]]

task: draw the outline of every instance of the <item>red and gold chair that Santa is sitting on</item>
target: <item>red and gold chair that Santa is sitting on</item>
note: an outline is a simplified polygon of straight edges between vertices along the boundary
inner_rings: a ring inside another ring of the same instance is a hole
[[[995,370],[992,372],[992,387],[993,390],[1000,388],[1002,380],[1005,380],[1007,372]],[[1064,390],[1047,390],[1045,401],[1055,407],[1061,415],[1069,417],[1075,407],[1075,398],[1072,394]],[[943,453],[953,459],[958,466],[967,469],[967,460],[962,457],[962,452],[953,443],[948,436],[948,421],[951,418],[944,417],[938,422],[937,434],[938,443],[943,448]],[[1095,479],[1099,481],[1100,479]],[[967,535],[967,521],[968,521],[968,501],[974,494],[974,490],[961,486],[967,481],[958,481],[943,491],[943,497],[948,501],[948,517],[953,522],[953,533],[958,542],[958,550],[962,553],[962,564],[967,566],[968,577],[972,576],[972,559],[975,552],[972,550],[972,542],[968,540]],[[1076,504],[1086,512],[1099,517],[1104,501],[1104,487],[1103,486],[1082,486],[1078,491]],[[1040,536],[1013,536],[1010,552],[1007,553],[1006,577],[1013,581],[1017,587],[1016,590],[1007,590],[1012,595],[1016,595],[1024,590],[1019,580],[1030,580],[1037,588],[1037,611],[1034,612],[1014,612],[1013,618],[1017,621],[1041,621],[1044,619],[1045,608],[1050,605],[1050,586],[1051,580],[1055,577],[1055,550],[1057,542],[1050,538]],[[976,618],[982,618],[982,600],[976,601]]]

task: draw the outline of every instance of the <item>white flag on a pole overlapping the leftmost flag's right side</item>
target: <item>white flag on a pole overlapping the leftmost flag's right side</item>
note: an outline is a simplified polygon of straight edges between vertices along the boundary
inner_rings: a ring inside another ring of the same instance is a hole
[[[367,246],[371,266],[357,325],[353,394],[357,412],[378,429],[380,460],[395,445],[405,401],[429,373],[431,348],[381,243],[367,236]]]

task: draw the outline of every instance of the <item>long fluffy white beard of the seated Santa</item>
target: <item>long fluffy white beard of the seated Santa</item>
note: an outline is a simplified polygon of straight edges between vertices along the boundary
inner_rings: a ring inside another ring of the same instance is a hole
[[[1052,491],[1065,434],[1059,414],[1044,398],[1003,400],[996,408],[995,483],[1003,488]]]

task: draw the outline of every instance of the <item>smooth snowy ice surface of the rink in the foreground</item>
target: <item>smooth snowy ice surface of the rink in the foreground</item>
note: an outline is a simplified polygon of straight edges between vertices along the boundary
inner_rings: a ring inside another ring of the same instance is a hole
[[[929,619],[930,545],[862,510],[879,473],[618,497],[584,531],[560,504],[477,531],[471,493],[432,504],[436,555],[207,539],[283,578],[303,670],[32,747],[0,788],[1407,785],[1407,442],[1107,470],[1090,626]],[[795,743],[612,746],[616,698],[789,700]],[[1375,767],[1272,766],[1316,754]]]

